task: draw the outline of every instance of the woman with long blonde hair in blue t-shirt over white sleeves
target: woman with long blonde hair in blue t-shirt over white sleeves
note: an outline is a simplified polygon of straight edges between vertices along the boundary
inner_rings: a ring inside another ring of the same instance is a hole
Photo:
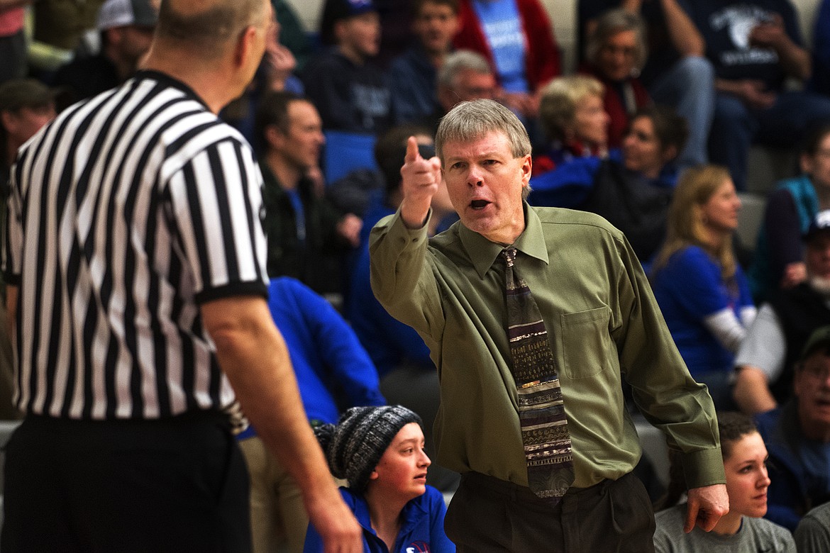
[[[735,352],[755,316],[732,242],[740,198],[724,167],[688,169],[669,208],[652,289],[691,376],[719,409],[731,405]]]

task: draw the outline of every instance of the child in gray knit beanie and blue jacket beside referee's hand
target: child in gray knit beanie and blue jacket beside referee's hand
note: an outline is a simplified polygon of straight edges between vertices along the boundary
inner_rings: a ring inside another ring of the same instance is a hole
[[[421,424],[413,411],[386,405],[353,407],[336,426],[315,429],[331,473],[349,483],[340,493],[364,527],[364,551],[456,551],[444,534],[444,497],[427,486],[431,461],[423,451]],[[323,541],[312,525],[304,551],[323,551]]]

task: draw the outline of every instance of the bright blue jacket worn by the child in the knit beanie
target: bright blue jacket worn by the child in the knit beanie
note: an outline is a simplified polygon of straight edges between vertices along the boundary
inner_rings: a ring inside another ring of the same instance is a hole
[[[389,551],[385,543],[374,533],[369,519],[369,504],[364,497],[349,488],[340,488],[346,505],[354,512],[360,526],[364,528],[365,553],[454,553],[456,546],[444,533],[444,515],[447,507],[444,497],[437,489],[427,486],[427,492],[416,497],[403,507],[403,524],[398,532],[395,546]],[[320,553],[323,541],[313,525],[305,534],[304,553]]]

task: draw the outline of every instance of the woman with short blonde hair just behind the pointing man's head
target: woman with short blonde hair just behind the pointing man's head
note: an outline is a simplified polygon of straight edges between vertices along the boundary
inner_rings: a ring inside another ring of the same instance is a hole
[[[542,90],[540,119],[548,149],[535,156],[535,175],[574,158],[608,156],[608,114],[603,107],[605,87],[588,75],[551,80]]]

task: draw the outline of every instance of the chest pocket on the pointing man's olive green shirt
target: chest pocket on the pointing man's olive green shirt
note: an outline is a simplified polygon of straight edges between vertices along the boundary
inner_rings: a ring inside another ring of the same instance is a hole
[[[611,361],[611,336],[607,306],[560,315],[560,340],[564,376],[571,380],[588,378],[604,371]]]

